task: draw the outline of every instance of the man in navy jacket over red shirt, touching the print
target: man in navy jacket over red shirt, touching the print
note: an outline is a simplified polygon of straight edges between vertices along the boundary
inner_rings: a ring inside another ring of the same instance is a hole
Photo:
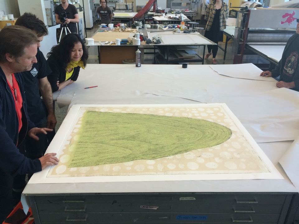
[[[23,78],[16,73],[28,71],[36,63],[37,42],[37,36],[22,26],[0,31],[0,223],[13,209],[12,176],[58,164],[56,153],[31,160],[17,148],[26,134],[38,140],[37,134],[52,131],[36,128],[28,119]]]

